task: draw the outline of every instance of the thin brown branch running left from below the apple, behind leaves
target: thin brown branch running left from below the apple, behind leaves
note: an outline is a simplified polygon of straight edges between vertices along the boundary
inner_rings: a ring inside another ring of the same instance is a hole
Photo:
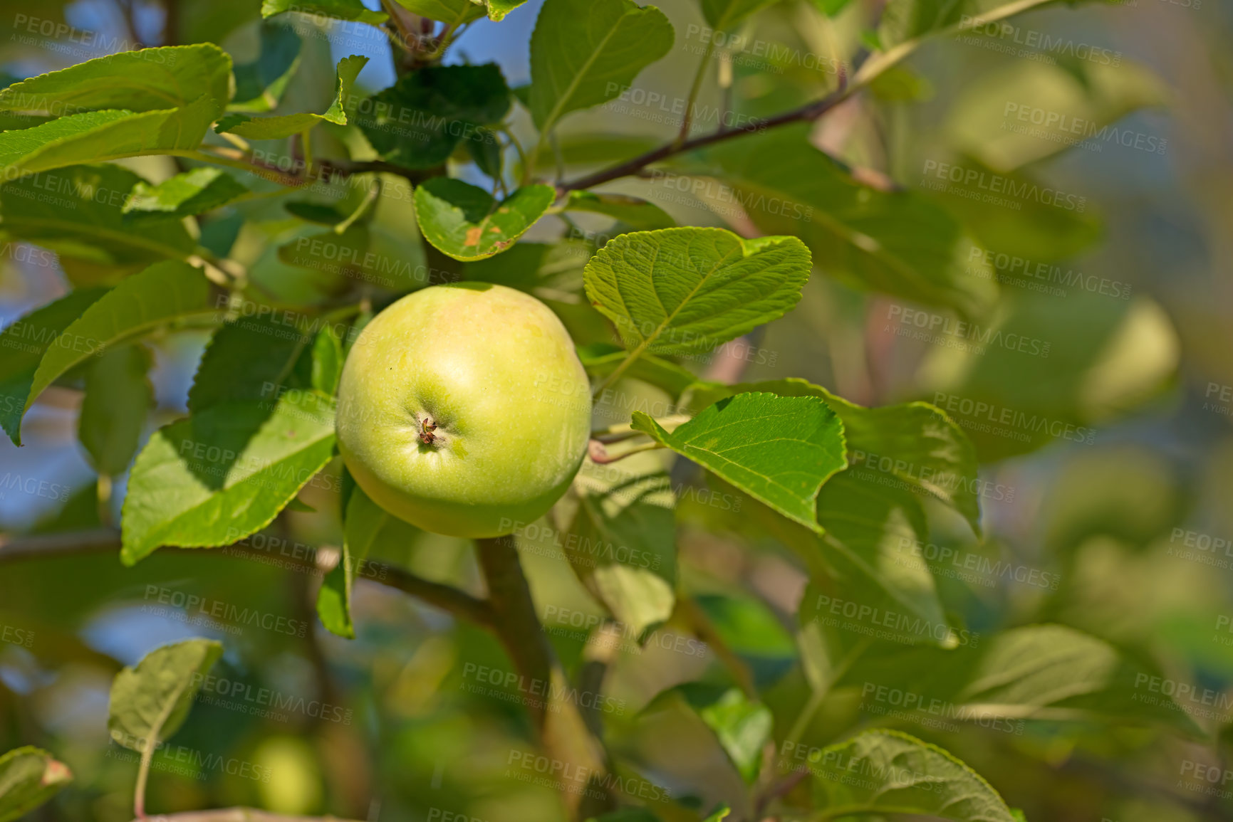
[[[216,556],[248,555],[252,557],[265,557],[265,551],[236,542],[227,546],[228,552]],[[195,553],[212,553],[202,548],[175,548],[164,547],[162,551],[192,551]],[[0,535],[0,564],[7,562],[21,562],[23,560],[44,560],[60,556],[80,556],[89,553],[113,553],[120,551],[120,531],[116,529],[92,529],[89,531],[65,531],[62,534],[32,534],[26,536]],[[302,569],[323,572],[317,564],[314,553],[308,556],[280,557],[287,564],[297,566]],[[477,599],[466,592],[453,585],[432,582],[423,577],[377,562],[366,562],[366,571],[361,578],[371,582],[396,588],[403,593],[422,599],[429,605],[449,611],[455,616],[487,626],[492,621],[492,609],[488,603]]]

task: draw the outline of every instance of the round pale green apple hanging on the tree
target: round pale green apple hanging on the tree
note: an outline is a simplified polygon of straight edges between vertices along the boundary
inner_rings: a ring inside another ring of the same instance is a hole
[[[501,536],[543,516],[591,437],[587,373],[561,320],[498,285],[430,286],[391,304],[351,346],[338,397],[355,482],[449,536]]]

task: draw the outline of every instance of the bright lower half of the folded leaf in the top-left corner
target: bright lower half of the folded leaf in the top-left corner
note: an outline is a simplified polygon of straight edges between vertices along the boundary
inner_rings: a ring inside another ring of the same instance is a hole
[[[88,111],[33,128],[0,132],[0,175],[12,180],[79,163],[195,150],[217,108],[213,97],[201,96],[182,108]]]

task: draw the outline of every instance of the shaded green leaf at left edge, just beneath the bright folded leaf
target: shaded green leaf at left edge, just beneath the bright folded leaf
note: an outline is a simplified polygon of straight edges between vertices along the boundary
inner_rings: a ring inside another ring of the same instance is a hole
[[[0,186],[0,230],[55,251],[79,283],[113,282],[160,260],[189,256],[192,238],[174,213],[142,212],[139,227],[136,213],[125,214],[133,191],[143,186],[150,187],[110,164],[14,180]]]

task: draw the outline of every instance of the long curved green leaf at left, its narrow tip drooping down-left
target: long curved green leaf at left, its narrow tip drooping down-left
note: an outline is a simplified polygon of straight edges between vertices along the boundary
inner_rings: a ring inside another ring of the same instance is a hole
[[[86,308],[60,333],[55,345],[47,349],[18,421],[47,386],[107,346],[133,340],[168,323],[213,315],[210,281],[186,262],[159,262],[128,277]],[[14,442],[21,444],[16,436]]]

